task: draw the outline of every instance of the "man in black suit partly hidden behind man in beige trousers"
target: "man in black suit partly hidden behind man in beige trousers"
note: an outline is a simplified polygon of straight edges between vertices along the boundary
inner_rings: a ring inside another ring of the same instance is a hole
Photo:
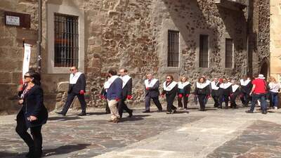
[[[122,118],[123,111],[125,110],[126,112],[129,113],[129,117],[132,117],[133,110],[129,109],[129,107],[126,105],[125,101],[126,101],[126,99],[131,100],[133,98],[133,96],[132,96],[133,80],[131,77],[129,77],[128,70],[126,70],[126,69],[119,70],[119,74],[120,74],[120,78],[123,81],[122,99],[119,100],[119,103],[118,103],[119,115],[120,115],[120,118]]]

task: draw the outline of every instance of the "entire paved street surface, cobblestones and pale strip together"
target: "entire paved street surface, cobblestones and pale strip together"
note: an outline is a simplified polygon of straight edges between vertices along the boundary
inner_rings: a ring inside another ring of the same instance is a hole
[[[247,108],[208,106],[207,112],[192,107],[189,114],[138,109],[119,124],[108,123],[110,115],[101,110],[86,117],[51,113],[42,131],[44,157],[281,158],[281,110],[246,114]],[[0,157],[24,157],[27,151],[14,118],[0,117]]]

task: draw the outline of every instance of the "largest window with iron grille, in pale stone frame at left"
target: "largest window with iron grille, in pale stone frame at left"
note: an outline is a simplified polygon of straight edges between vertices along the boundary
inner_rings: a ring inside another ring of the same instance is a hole
[[[78,17],[55,13],[55,67],[78,66]]]

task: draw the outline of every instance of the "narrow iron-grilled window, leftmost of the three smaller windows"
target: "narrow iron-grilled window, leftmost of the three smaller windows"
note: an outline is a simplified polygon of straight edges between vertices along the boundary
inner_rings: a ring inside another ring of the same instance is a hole
[[[179,32],[168,30],[168,67],[178,67]]]

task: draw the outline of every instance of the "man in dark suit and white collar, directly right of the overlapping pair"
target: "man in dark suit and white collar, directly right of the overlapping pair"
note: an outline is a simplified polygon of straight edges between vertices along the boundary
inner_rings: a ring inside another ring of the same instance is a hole
[[[158,108],[158,112],[162,112],[162,105],[159,102],[159,81],[154,79],[152,74],[147,74],[145,79],[145,111],[150,112],[150,100],[152,99]]]

